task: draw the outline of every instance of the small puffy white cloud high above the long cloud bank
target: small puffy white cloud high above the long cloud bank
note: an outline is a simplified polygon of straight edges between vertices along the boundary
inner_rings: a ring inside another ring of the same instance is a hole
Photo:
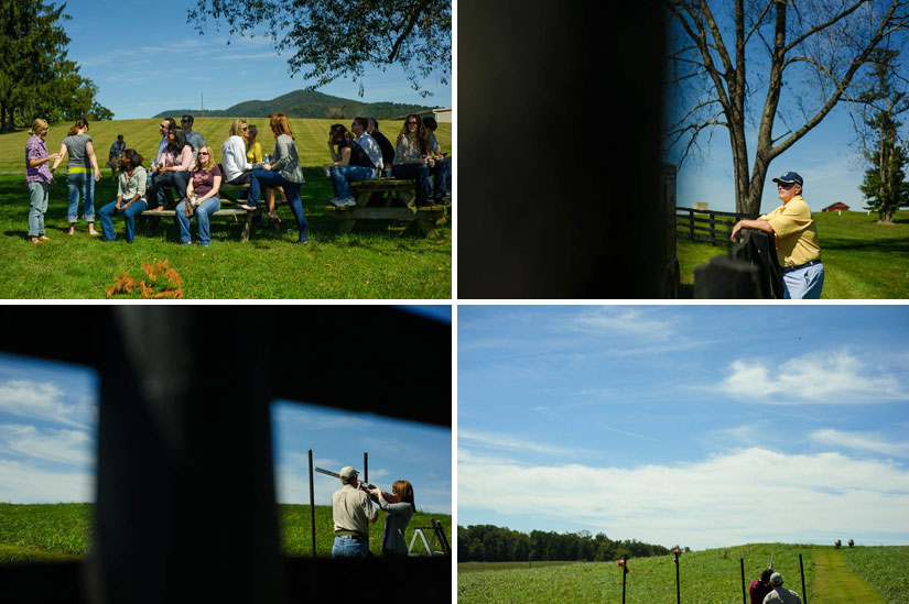
[[[791,359],[776,367],[759,361],[734,361],[718,391],[775,404],[864,404],[907,400],[909,392],[891,375],[874,374],[845,351]]]

